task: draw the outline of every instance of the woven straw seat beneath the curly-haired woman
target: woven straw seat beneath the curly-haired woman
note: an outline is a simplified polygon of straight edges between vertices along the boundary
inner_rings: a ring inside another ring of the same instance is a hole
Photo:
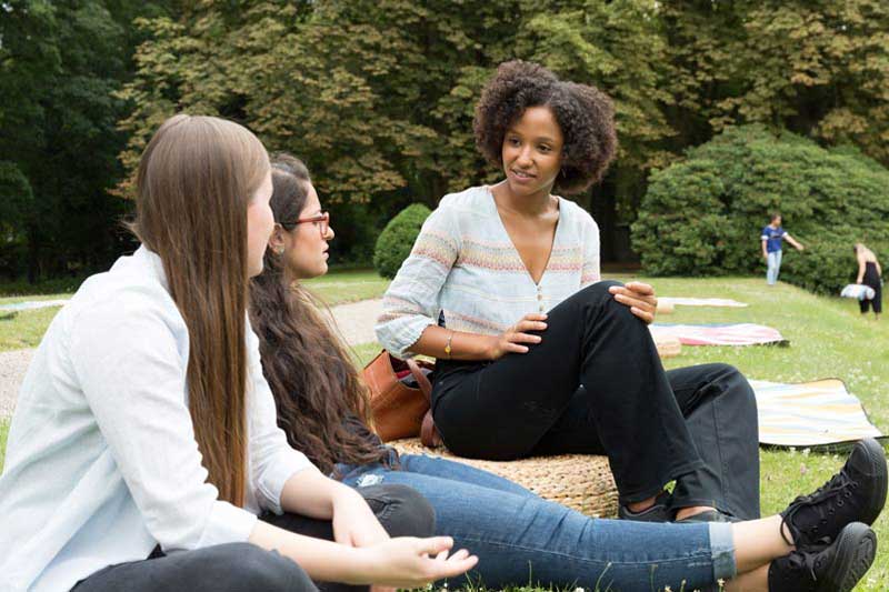
[[[462,462],[503,476],[541,498],[595,518],[618,514],[618,491],[607,456],[560,454],[499,462],[463,459],[444,448],[429,449],[418,438],[389,442],[402,454],[427,454]]]

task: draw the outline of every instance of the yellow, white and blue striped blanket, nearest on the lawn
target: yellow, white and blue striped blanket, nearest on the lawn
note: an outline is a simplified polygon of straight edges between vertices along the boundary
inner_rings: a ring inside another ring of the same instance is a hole
[[[751,380],[750,385],[757,395],[760,444],[807,448],[883,435],[839,379],[797,384]]]

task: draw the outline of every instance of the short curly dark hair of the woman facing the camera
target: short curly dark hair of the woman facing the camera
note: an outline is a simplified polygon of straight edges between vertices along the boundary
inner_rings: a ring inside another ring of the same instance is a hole
[[[579,193],[601,180],[615,158],[615,107],[602,91],[566,82],[540,64],[503,62],[476,106],[476,146],[502,168],[503,137],[529,107],[549,107],[562,131],[562,167],[555,190]]]

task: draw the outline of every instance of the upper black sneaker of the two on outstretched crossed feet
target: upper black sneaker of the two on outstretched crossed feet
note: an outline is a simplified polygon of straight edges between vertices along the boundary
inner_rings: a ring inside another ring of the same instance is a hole
[[[886,453],[880,443],[872,438],[858,442],[839,473],[781,512],[793,539],[788,544],[805,549],[826,536],[835,540],[850,522],[873,524],[886,503]]]

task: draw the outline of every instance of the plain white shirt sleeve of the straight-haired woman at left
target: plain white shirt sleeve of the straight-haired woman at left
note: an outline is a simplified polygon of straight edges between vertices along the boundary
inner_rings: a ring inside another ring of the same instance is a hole
[[[158,295],[116,294],[72,322],[70,362],[108,450],[164,551],[246,541],[252,513],[219,500],[194,439],[186,351]],[[183,361],[184,360],[184,361]]]

